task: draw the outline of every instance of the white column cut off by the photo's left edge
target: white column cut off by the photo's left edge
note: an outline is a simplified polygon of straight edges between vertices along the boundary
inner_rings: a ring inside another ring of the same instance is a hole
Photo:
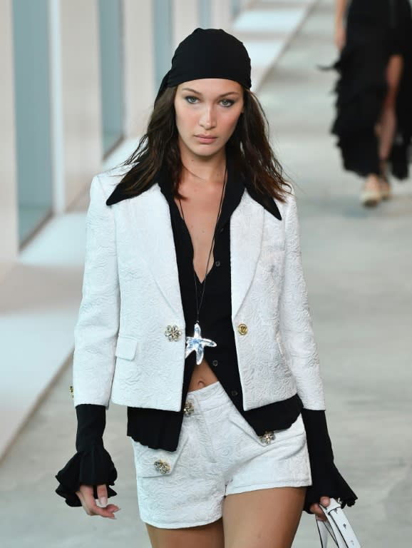
[[[0,278],[19,250],[11,0],[0,0]]]

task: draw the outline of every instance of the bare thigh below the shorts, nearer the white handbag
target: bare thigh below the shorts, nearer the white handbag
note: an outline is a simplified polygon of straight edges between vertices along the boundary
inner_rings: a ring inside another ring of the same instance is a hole
[[[223,503],[225,548],[290,548],[306,487],[230,494]]]

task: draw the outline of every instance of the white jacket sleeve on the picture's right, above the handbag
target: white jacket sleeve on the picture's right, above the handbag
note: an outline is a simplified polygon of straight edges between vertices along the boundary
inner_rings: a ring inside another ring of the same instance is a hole
[[[297,205],[293,195],[287,197],[284,223],[284,283],[279,306],[283,350],[305,409],[324,410],[319,357],[302,270]]]

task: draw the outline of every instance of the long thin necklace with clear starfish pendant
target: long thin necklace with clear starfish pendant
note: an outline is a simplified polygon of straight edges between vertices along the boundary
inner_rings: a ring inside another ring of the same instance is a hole
[[[203,355],[205,353],[205,346],[211,346],[211,347],[217,346],[216,342],[214,340],[202,338],[202,329],[200,328],[199,314],[200,314],[200,308],[201,308],[202,302],[203,302],[203,296],[205,295],[206,280],[207,280],[207,275],[208,275],[207,268],[209,268],[210,255],[212,255],[213,245],[215,244],[217,224],[219,223],[220,213],[222,213],[223,196],[225,195],[225,188],[226,188],[226,176],[227,176],[227,166],[225,167],[225,176],[224,176],[224,179],[223,179],[223,186],[222,186],[222,196],[220,196],[219,210],[217,211],[215,230],[213,230],[212,243],[210,245],[209,255],[207,255],[205,278],[203,279],[203,288],[202,288],[202,295],[200,295],[200,300],[197,296],[197,281],[196,281],[195,266],[192,264],[193,281],[195,282],[196,321],[195,321],[195,328],[193,330],[193,336],[192,337],[186,337],[185,357],[187,357],[191,352],[196,352],[196,363],[197,363],[197,365],[200,365],[200,363],[202,363]],[[183,221],[186,225],[186,228],[187,228],[187,223],[186,223],[186,220],[185,220],[185,213],[183,213],[182,202],[180,201],[180,198],[179,198],[179,205],[180,205],[180,212],[182,213],[182,219],[183,219]],[[187,228],[187,232],[189,232],[188,228]]]

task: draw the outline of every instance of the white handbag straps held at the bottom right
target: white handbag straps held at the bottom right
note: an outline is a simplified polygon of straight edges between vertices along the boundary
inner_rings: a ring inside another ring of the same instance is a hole
[[[316,519],[319,537],[321,538],[321,548],[326,548],[329,534],[338,548],[361,548],[354,529],[351,528],[351,524],[339,502],[331,499],[331,504],[328,507],[321,504],[319,506],[326,516],[326,522]]]

